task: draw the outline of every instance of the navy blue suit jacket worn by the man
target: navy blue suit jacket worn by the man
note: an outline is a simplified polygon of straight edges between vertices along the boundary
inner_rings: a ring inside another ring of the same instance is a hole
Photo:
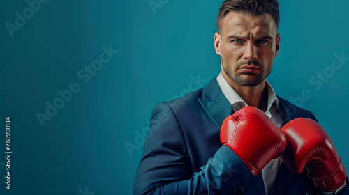
[[[282,98],[279,107],[282,124],[299,117],[316,120],[309,111]],[[156,104],[133,194],[265,194],[262,173],[253,176],[244,162],[221,144],[221,124],[231,114],[232,106],[216,77],[205,88]],[[316,190],[305,173],[294,174],[281,164],[274,194],[311,194]]]

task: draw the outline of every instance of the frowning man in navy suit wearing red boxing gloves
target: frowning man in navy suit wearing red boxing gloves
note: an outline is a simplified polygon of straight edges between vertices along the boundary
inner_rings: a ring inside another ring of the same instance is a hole
[[[224,1],[217,26],[221,73],[156,104],[133,194],[349,194],[315,116],[266,81],[280,48],[279,2]]]

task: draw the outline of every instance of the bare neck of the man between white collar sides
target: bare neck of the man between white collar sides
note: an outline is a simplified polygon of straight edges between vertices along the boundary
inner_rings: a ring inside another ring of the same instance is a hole
[[[223,74],[223,77],[248,106],[267,111],[268,90],[265,87],[265,80],[258,86],[239,86],[227,75]]]

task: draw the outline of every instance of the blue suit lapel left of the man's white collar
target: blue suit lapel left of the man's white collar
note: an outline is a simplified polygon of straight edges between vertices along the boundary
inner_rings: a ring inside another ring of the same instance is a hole
[[[232,105],[230,105],[222,93],[216,77],[202,89],[202,98],[198,98],[198,101],[217,125],[218,129],[221,129],[223,120],[232,114]]]

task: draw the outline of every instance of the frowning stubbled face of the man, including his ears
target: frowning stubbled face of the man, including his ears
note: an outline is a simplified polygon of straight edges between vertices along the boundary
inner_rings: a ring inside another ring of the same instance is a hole
[[[253,17],[230,11],[225,16],[214,45],[221,56],[222,74],[230,84],[258,86],[265,81],[279,52],[280,35],[276,32],[268,13]]]

